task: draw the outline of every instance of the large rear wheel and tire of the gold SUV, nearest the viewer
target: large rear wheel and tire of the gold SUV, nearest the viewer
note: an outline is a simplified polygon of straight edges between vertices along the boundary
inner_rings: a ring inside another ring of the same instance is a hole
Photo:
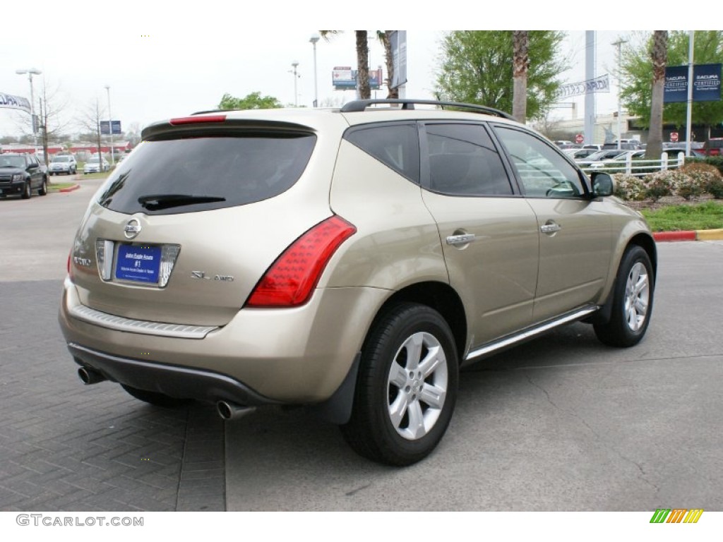
[[[428,306],[393,306],[362,347],[354,407],[342,434],[368,459],[416,463],[445,434],[457,384],[458,354],[445,319]]]

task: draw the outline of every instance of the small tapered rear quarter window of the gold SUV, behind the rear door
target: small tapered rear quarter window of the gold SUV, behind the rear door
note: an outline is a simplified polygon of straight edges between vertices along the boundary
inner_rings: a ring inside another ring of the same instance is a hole
[[[382,124],[350,129],[344,139],[384,165],[419,183],[419,137],[414,124]]]

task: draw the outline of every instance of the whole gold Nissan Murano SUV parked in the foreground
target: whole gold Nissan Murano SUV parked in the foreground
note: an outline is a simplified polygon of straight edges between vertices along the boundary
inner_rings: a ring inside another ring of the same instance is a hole
[[[580,320],[643,338],[655,244],[612,192],[482,106],[158,122],[82,219],[60,323],[86,384],[224,418],[307,405],[408,465],[445,433],[461,366]]]

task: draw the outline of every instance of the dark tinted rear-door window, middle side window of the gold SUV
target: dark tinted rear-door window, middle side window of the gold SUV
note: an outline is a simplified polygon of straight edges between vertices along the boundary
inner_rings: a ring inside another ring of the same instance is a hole
[[[453,195],[510,195],[502,159],[484,127],[427,124],[429,189]]]

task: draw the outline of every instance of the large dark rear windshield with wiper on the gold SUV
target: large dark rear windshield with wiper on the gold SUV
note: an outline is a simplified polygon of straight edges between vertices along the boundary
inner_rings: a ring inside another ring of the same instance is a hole
[[[277,196],[299,180],[313,134],[240,134],[145,141],[108,178],[98,202],[132,214],[235,207]]]

